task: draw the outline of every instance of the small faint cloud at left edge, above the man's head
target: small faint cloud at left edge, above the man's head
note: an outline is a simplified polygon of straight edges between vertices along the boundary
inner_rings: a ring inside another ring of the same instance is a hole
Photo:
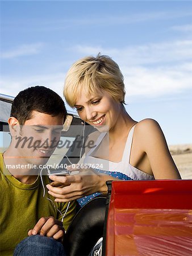
[[[8,51],[2,52],[2,59],[11,59],[19,56],[34,55],[40,52],[43,47],[43,43],[36,44],[23,44],[15,49],[10,49]]]

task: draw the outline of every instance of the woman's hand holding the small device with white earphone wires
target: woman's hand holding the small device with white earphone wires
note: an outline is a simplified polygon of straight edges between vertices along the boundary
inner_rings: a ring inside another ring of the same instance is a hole
[[[95,192],[107,193],[106,181],[114,179],[108,175],[97,175],[91,168],[71,167],[68,170],[80,172],[70,176],[49,176],[51,180],[62,183],[61,187],[55,187],[54,183],[46,186],[49,189],[48,193],[56,198],[56,202],[68,202]]]

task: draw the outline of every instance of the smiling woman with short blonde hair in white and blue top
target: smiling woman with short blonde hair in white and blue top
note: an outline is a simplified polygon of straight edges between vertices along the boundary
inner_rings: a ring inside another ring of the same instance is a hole
[[[51,176],[66,184],[62,188],[48,185],[55,201],[85,196],[78,200],[82,206],[96,192],[107,193],[107,180],[181,179],[158,123],[153,119],[137,122],[126,112],[123,75],[110,57],[89,56],[74,63],[66,75],[64,96],[99,133],[89,136],[95,145],[84,159],[93,168],[84,168],[78,175]],[[103,168],[94,170],[95,164]]]

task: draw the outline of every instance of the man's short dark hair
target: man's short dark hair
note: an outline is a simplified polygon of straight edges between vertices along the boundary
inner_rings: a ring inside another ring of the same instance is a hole
[[[66,109],[62,98],[44,86],[33,86],[22,90],[14,98],[11,117],[18,119],[20,125],[31,119],[32,111],[52,116],[61,115],[66,119]]]

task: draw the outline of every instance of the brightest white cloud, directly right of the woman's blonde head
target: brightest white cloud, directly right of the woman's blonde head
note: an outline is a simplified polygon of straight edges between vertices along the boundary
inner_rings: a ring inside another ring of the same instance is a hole
[[[185,63],[172,67],[144,68],[123,66],[127,101],[130,96],[159,97],[192,89],[192,64]]]

